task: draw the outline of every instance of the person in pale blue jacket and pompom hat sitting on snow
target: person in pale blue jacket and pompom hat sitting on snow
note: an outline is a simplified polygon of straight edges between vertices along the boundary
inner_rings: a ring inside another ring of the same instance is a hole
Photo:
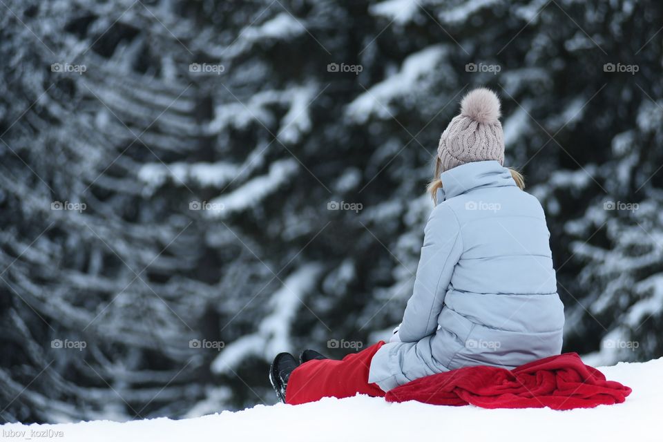
[[[471,365],[511,369],[561,351],[564,306],[539,201],[504,167],[497,95],[472,90],[440,139],[435,207],[425,227],[414,291],[390,343],[342,361],[313,350],[274,359],[280,401],[385,392]]]

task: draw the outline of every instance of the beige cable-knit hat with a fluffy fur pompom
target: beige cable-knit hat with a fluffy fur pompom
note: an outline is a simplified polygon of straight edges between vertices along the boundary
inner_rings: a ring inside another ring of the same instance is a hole
[[[442,171],[461,164],[496,160],[504,164],[504,134],[499,123],[499,98],[486,88],[471,90],[461,102],[461,115],[442,133],[437,155]]]

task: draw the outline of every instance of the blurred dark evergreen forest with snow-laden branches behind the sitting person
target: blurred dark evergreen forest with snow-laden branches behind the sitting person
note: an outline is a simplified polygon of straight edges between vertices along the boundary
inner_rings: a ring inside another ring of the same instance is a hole
[[[663,4],[1,0],[0,416],[273,403],[385,337],[439,135],[501,96],[564,351],[663,354]]]

